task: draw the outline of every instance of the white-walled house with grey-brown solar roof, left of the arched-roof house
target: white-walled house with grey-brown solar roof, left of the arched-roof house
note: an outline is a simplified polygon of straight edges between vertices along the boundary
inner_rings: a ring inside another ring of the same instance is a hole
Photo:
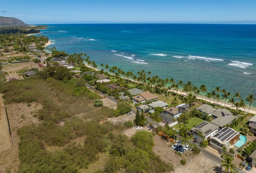
[[[205,139],[209,139],[210,137],[212,137],[218,132],[218,128],[219,128],[218,125],[212,124],[208,121],[204,121],[201,124],[193,127],[191,129],[191,132],[193,134],[193,137],[195,137],[196,139],[199,139],[199,136],[198,136],[199,132],[202,132]]]

